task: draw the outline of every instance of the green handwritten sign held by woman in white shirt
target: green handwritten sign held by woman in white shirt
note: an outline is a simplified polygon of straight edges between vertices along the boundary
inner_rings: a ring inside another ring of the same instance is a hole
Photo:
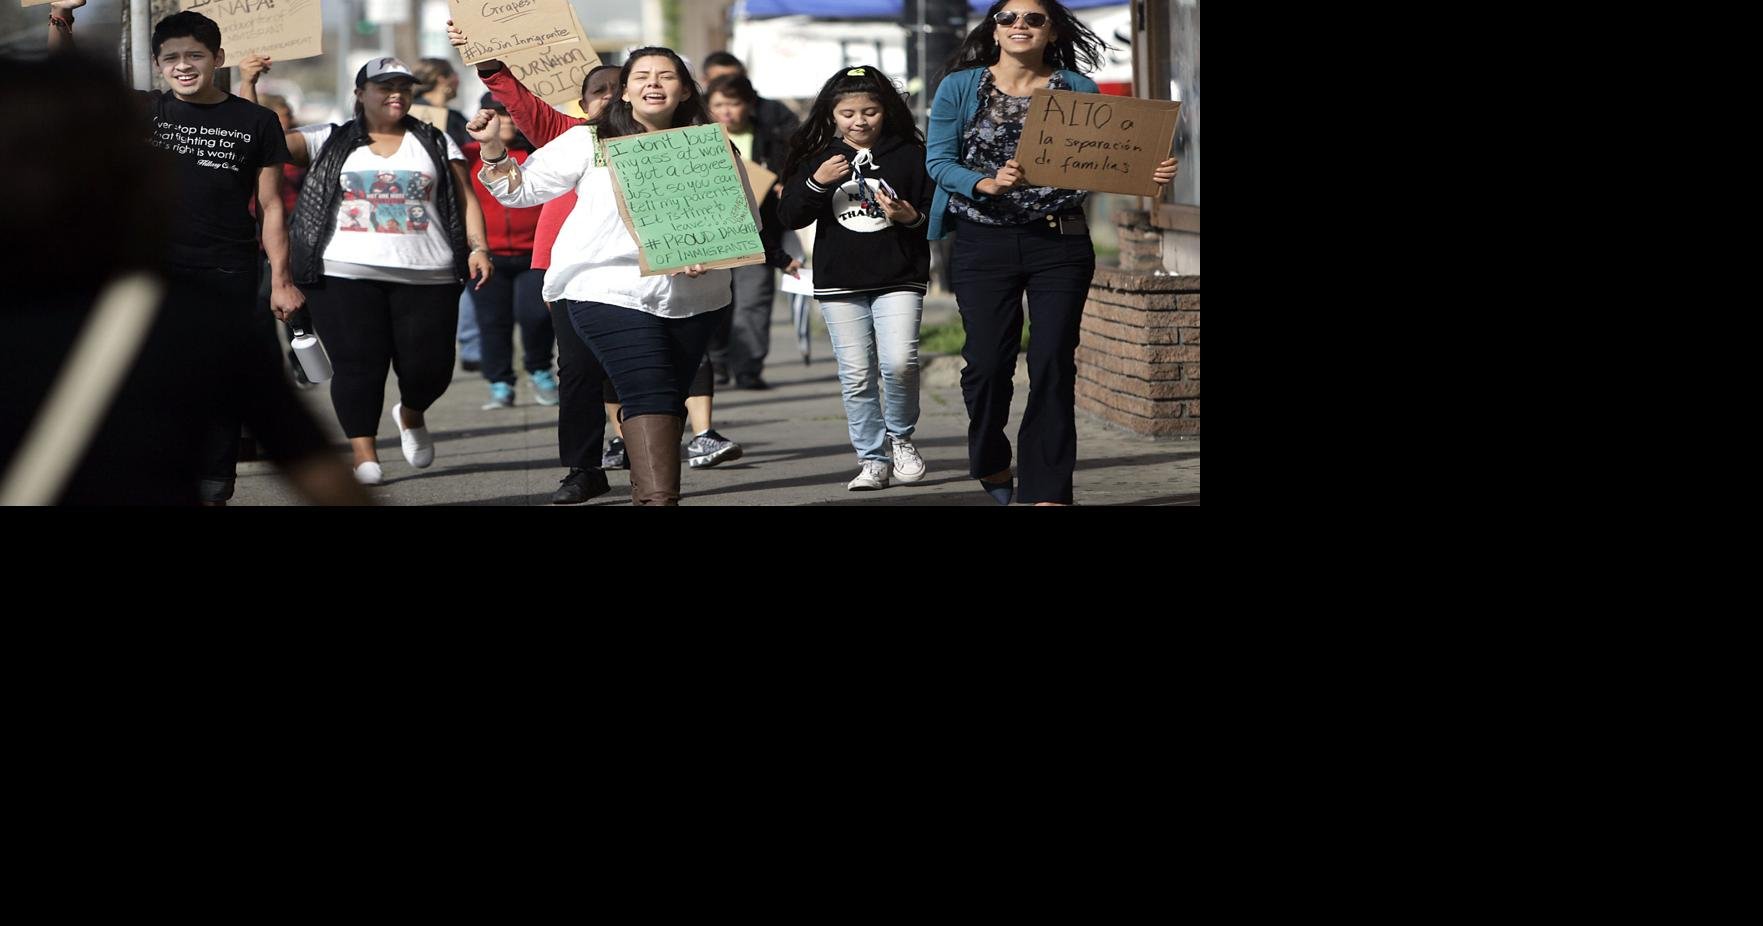
[[[765,263],[753,190],[719,123],[601,143],[643,277]]]

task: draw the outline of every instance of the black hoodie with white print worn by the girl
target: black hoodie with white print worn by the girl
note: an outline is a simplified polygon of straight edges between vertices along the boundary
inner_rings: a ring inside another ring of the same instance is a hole
[[[834,215],[834,187],[850,183],[852,175],[827,189],[815,189],[809,178],[815,169],[834,155],[857,159],[857,150],[844,141],[834,141],[825,150],[804,161],[783,185],[777,217],[785,228],[815,226],[815,295],[864,293],[874,289],[924,291],[931,280],[931,245],[924,233],[931,212],[934,183],[924,169],[924,146],[889,136],[873,150],[874,164],[864,169],[866,178],[887,180],[899,198],[919,210],[915,228],[890,222],[878,231],[853,231]]]

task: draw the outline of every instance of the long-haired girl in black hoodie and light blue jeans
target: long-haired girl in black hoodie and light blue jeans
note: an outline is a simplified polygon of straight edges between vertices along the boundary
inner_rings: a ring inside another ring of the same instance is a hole
[[[846,489],[919,482],[919,321],[931,280],[924,238],[934,185],[924,136],[874,67],[841,69],[790,141],[777,217],[815,226],[815,298],[839,360],[860,469]],[[882,392],[876,393],[880,374]]]

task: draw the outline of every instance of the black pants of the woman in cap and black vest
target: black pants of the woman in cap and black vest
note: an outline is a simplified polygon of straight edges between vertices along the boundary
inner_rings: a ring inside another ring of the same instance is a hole
[[[413,286],[324,277],[319,286],[301,289],[337,370],[331,406],[346,436],[379,434],[388,367],[398,374],[398,402],[411,411],[428,411],[453,381],[457,282]]]

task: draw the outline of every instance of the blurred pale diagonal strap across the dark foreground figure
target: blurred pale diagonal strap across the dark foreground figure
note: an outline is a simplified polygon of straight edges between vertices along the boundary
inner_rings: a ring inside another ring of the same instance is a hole
[[[134,369],[162,293],[164,284],[148,273],[122,277],[99,293],[0,483],[0,504],[55,504],[62,497],[123,376]]]

